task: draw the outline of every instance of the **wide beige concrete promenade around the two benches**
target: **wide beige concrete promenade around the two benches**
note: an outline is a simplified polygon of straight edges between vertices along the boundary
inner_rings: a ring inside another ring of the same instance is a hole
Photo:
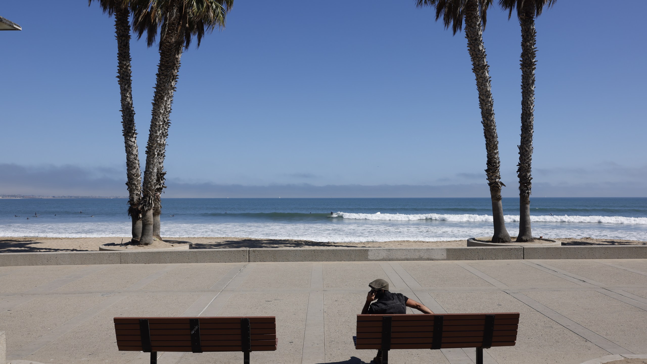
[[[276,352],[252,363],[371,361],[355,350],[367,284],[436,313],[521,312],[515,347],[486,363],[578,364],[647,354],[647,260],[239,262],[0,267],[0,331],[7,360],[144,364],[116,348],[115,316],[274,315]],[[241,363],[243,354],[160,353],[160,364]],[[392,363],[471,364],[474,349],[392,350]]]

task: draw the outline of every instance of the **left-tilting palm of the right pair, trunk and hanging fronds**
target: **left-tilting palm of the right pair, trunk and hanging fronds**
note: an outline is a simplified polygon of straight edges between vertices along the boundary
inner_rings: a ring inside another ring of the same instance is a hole
[[[496,133],[494,120],[494,99],[490,86],[489,66],[486,60],[485,45],[483,45],[483,27],[485,27],[487,8],[491,0],[416,0],[416,3],[419,7],[434,6],[436,20],[443,17],[444,27],[452,27],[454,34],[463,28],[463,18],[465,18],[465,38],[467,38],[467,49],[470,58],[472,58],[472,71],[476,76],[481,124],[483,124],[483,135],[485,135],[485,150],[487,152],[485,173],[490,186],[494,218],[492,242],[512,242],[503,221],[501,187],[505,187],[505,185],[501,182],[501,173],[499,172],[499,137]]]

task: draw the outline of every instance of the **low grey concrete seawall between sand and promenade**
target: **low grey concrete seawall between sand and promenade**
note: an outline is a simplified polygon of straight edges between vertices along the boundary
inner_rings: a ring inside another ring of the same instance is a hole
[[[647,245],[556,247],[327,247],[0,253],[0,266],[384,260],[644,259]]]

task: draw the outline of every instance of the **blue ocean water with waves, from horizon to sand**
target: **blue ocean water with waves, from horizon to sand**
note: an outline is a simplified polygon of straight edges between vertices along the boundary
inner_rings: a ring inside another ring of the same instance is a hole
[[[503,209],[516,235],[518,199],[504,198]],[[531,215],[535,236],[647,240],[647,198],[532,198]],[[0,199],[0,236],[129,236],[129,229],[127,199]],[[488,198],[162,199],[163,236],[367,242],[490,234]]]

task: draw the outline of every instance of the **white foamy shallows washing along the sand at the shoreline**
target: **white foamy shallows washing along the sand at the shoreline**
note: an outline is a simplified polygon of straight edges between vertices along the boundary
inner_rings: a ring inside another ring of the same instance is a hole
[[[386,214],[384,214],[386,215]],[[552,216],[551,216],[552,217]],[[516,236],[517,224],[508,231]],[[560,223],[533,225],[533,233],[551,237],[612,238],[644,240],[647,226],[619,223]],[[129,222],[111,223],[38,223],[14,224],[0,229],[0,236],[39,236],[57,238],[91,238],[129,236]],[[462,240],[492,234],[492,223],[402,223],[399,221],[368,222],[341,220],[339,223],[170,223],[162,222],[162,236],[239,236],[265,239],[297,239],[314,242],[383,242],[389,240]],[[189,239],[190,240],[190,239]]]

